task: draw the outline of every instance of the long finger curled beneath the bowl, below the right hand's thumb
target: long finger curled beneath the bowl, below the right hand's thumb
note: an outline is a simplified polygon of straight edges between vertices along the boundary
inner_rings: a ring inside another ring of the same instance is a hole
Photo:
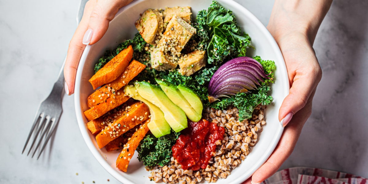
[[[302,127],[307,121],[312,109],[312,98],[315,90],[311,92],[311,98],[309,98],[307,104],[299,110],[291,120],[292,123],[288,125],[279,140],[275,150],[272,152],[266,162],[255,171],[252,175],[252,184],[260,183],[273,174],[281,167],[287,158],[291,155],[294,147],[298,141]]]

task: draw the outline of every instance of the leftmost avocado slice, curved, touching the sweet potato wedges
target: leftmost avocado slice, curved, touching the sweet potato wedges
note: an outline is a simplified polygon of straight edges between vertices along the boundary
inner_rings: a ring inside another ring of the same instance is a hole
[[[157,138],[166,134],[170,134],[170,125],[165,120],[164,114],[160,110],[160,108],[153,105],[153,103],[149,102],[148,100],[142,98],[142,96],[139,95],[136,91],[137,88],[135,88],[134,85],[124,86],[125,95],[130,96],[130,98],[140,100],[148,106],[149,112],[151,113],[151,121],[149,121],[147,126],[151,133]]]

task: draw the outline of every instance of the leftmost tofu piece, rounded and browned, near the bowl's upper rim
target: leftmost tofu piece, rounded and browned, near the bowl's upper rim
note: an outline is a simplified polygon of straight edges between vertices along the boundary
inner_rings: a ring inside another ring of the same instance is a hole
[[[162,13],[153,9],[144,11],[142,16],[135,22],[135,28],[147,43],[155,45],[156,33],[163,32]]]

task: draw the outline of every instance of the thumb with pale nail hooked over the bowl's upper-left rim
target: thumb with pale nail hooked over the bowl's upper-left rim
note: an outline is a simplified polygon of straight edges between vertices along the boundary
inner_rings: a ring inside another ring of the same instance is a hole
[[[92,45],[105,35],[109,22],[113,20],[117,11],[129,4],[132,0],[100,0],[89,17],[88,29],[83,38],[83,43]]]

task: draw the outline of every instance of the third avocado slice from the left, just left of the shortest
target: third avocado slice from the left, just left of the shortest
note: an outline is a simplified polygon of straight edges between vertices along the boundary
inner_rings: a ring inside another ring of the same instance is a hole
[[[180,107],[181,110],[184,111],[185,115],[187,115],[188,119],[194,122],[198,122],[202,118],[202,113],[198,114],[190,103],[184,98],[184,96],[180,93],[178,88],[168,82],[161,81],[156,79],[157,84],[160,85],[163,92],[167,97],[173,102],[175,105]]]

